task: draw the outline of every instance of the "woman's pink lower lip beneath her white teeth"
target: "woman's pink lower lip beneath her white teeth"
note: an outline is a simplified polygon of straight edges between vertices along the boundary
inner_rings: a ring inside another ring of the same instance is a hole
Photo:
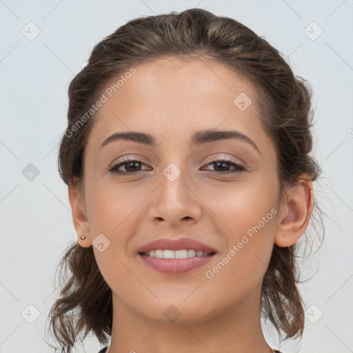
[[[208,263],[213,259],[214,255],[215,254],[208,256],[194,256],[183,259],[160,259],[154,256],[144,256],[139,254],[142,261],[150,266],[150,268],[168,274],[182,274],[195,270],[196,268],[205,265],[205,263]]]

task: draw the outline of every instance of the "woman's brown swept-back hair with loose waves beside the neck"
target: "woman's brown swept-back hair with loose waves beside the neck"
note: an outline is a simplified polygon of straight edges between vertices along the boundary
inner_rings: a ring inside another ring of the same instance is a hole
[[[250,28],[232,18],[192,8],[133,19],[94,46],[87,65],[72,79],[68,89],[68,126],[61,137],[58,155],[64,183],[82,188],[83,153],[95,114],[79,128],[77,124],[97,102],[108,82],[133,65],[166,57],[195,56],[223,63],[253,83],[260,118],[276,147],[280,191],[285,186],[297,185],[303,175],[315,181],[321,168],[310,156],[314,116],[310,84],[294,76],[282,54]],[[313,215],[318,211],[320,214],[315,199]],[[310,219],[312,223],[314,218]],[[285,339],[303,336],[299,257],[298,243],[289,247],[274,244],[263,278],[261,314],[280,336],[285,334]],[[81,341],[93,332],[99,343],[107,343],[107,334],[112,333],[112,292],[99,271],[92,246],[83,248],[76,241],[70,244],[57,270],[63,288],[49,318],[50,330],[61,352],[71,352],[83,331]]]

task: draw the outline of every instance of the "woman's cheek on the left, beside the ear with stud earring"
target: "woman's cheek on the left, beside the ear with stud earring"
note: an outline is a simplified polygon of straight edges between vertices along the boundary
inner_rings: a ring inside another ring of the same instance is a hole
[[[133,220],[143,216],[138,208],[141,201],[135,192],[114,183],[101,183],[90,189],[88,197],[93,241],[98,234],[104,234],[110,241],[103,252],[93,248],[94,256],[103,279],[115,292],[121,292],[121,283],[131,281],[127,246],[136,232],[137,223]]]

